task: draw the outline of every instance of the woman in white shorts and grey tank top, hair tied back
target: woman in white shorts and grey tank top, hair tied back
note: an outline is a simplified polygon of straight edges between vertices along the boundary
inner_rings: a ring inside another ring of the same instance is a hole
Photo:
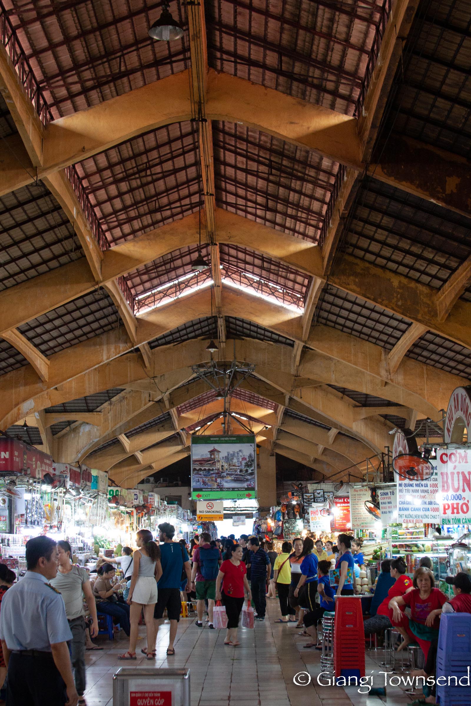
[[[133,554],[133,575],[126,601],[131,606],[129,650],[121,654],[119,659],[136,659],[139,618],[141,618],[142,610],[144,610],[147,630],[146,659],[155,659],[155,652],[153,652],[155,644],[154,606],[157,603],[157,580],[162,575],[160,549],[153,541],[152,532],[149,530],[139,530],[136,534],[136,544],[139,549]]]

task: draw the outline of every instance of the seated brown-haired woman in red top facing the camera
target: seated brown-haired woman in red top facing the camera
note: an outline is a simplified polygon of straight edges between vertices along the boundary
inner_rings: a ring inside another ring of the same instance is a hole
[[[441,606],[446,603],[446,595],[435,588],[434,575],[424,566],[415,571],[412,585],[413,591],[390,599],[389,607],[393,610],[394,620],[398,621],[403,617],[401,606],[410,606],[409,625],[398,626],[404,638],[400,649],[403,650],[410,642],[418,642],[427,661],[430,643],[439,636],[439,614]]]

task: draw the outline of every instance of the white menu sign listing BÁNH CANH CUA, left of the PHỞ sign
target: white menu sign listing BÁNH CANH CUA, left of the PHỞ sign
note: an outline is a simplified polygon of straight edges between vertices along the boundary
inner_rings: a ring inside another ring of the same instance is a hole
[[[439,479],[434,474],[427,480],[400,479],[398,489],[398,522],[415,525],[421,522],[439,522]]]

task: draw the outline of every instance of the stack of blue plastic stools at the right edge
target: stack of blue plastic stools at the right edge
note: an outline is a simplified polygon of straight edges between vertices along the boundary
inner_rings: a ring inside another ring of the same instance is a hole
[[[471,687],[467,686],[470,664],[471,614],[442,613],[436,653],[436,698],[440,706],[470,705]],[[443,686],[439,677],[445,677]]]

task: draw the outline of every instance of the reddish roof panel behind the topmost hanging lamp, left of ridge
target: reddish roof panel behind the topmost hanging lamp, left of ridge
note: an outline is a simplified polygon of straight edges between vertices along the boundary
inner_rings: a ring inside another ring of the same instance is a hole
[[[148,36],[160,16],[160,2],[79,0],[42,8],[11,0],[5,4],[54,118],[188,66],[187,33],[172,44]],[[181,8],[170,2],[174,17],[184,22]]]

